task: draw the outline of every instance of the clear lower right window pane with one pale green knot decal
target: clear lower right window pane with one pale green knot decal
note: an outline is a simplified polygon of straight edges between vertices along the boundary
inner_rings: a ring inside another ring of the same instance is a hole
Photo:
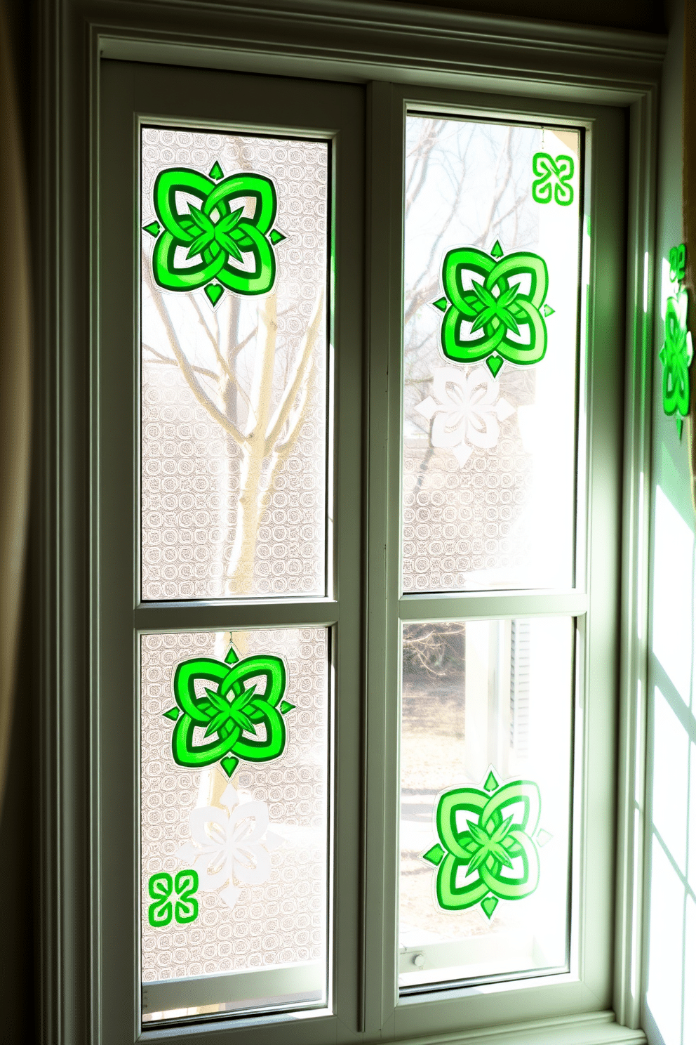
[[[567,969],[572,636],[404,625],[402,989]]]

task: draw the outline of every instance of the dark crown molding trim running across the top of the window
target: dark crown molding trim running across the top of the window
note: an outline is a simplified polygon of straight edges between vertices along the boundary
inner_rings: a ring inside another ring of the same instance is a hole
[[[85,3],[82,11],[107,59],[528,96],[572,93],[600,103],[638,100],[658,82],[667,46],[666,37],[648,32],[410,3],[111,0]]]

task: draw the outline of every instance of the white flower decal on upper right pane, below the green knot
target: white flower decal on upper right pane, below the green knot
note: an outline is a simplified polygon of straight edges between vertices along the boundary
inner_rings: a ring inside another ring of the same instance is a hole
[[[433,392],[435,398],[428,396],[415,409],[432,419],[432,445],[451,449],[460,465],[475,446],[495,446],[500,421],[514,413],[506,399],[496,401],[498,381],[485,367],[475,367],[469,373],[455,367],[436,367]]]

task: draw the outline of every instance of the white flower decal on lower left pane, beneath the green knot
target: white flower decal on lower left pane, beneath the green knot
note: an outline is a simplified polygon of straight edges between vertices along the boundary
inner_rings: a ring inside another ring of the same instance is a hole
[[[220,889],[229,907],[239,899],[242,885],[260,885],[270,877],[270,852],[285,840],[268,830],[268,806],[265,802],[244,802],[232,784],[220,802],[229,813],[216,806],[191,810],[191,841],[176,852],[179,860],[191,864],[198,874],[201,892]],[[229,883],[225,888],[221,886]]]

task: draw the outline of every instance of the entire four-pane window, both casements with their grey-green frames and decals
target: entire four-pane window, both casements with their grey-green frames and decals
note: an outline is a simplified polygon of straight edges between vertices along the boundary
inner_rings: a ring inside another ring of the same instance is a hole
[[[95,1034],[619,1040],[626,99],[128,47],[95,154]]]

